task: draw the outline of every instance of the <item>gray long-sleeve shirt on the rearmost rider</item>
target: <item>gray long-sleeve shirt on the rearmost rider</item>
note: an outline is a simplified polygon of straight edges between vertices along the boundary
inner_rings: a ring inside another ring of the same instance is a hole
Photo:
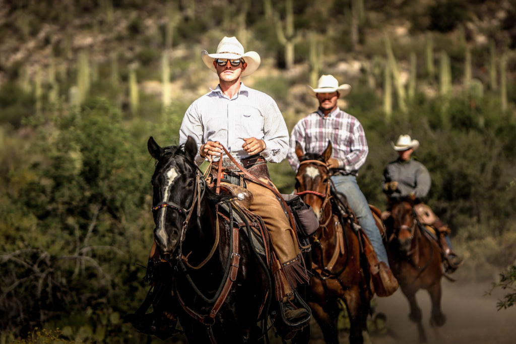
[[[397,190],[385,190],[385,183],[398,182]],[[427,168],[411,158],[408,161],[397,159],[385,167],[382,178],[382,190],[391,198],[402,198],[413,193],[417,199],[424,198],[430,190],[431,179]]]

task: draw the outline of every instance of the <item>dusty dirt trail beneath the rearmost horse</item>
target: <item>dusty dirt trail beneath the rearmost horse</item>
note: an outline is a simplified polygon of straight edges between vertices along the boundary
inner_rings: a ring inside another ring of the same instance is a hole
[[[516,307],[497,310],[497,299],[507,291],[497,288],[491,296],[490,283],[460,283],[443,280],[442,309],[446,323],[437,330],[430,327],[430,297],[425,290],[417,294],[423,311],[423,326],[429,344],[445,343],[516,343]],[[377,298],[377,312],[386,315],[385,326],[389,335],[374,336],[375,344],[414,343],[417,330],[408,320],[409,305],[401,290],[388,298]]]

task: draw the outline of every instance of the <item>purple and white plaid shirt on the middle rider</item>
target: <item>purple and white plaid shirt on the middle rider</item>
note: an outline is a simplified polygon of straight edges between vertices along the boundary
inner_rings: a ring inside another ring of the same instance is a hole
[[[345,174],[358,175],[358,169],[364,164],[369,149],[365,139],[364,128],[357,118],[338,107],[324,117],[320,109],[301,119],[290,137],[290,149],[287,159],[294,171],[299,168],[296,156],[296,141],[305,153],[324,152],[331,141],[331,156],[339,161],[339,169]]]

